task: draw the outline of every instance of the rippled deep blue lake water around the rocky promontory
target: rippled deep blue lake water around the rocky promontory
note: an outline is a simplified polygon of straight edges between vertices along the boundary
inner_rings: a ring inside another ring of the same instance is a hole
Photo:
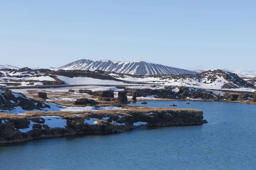
[[[0,170],[256,169],[256,105],[147,102],[152,107],[175,103],[177,108],[201,109],[209,123],[0,145]]]

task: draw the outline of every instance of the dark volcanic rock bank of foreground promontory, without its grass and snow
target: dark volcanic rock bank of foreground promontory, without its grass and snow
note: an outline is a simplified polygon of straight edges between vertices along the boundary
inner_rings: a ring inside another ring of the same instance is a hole
[[[152,108],[153,109],[153,108]],[[145,115],[144,111],[132,110],[125,113],[116,113],[106,115],[106,113],[88,113],[87,116],[64,116],[67,121],[65,128],[50,128],[45,124],[34,124],[32,130],[22,133],[19,129],[29,127],[29,118],[24,116],[12,116],[6,118],[2,113],[0,117],[0,143],[23,142],[32,139],[45,137],[66,136],[74,134],[93,134],[93,133],[122,133],[125,130],[135,128],[134,122],[147,122],[145,126],[170,126],[170,125],[201,125],[207,123],[203,118],[202,111],[195,110],[148,110]],[[108,116],[109,120],[103,118]],[[120,118],[119,116],[122,116]],[[7,116],[8,117],[8,116]],[[96,125],[84,123],[85,119],[96,118]],[[34,119],[34,118],[33,118]],[[35,118],[37,119],[37,118]],[[4,120],[4,123],[2,123]],[[116,123],[115,123],[116,122]],[[119,125],[120,123],[122,125]],[[42,128],[44,127],[44,128]]]

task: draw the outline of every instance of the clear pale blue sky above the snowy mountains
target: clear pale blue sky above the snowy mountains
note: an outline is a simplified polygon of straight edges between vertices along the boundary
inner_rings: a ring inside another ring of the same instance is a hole
[[[255,0],[0,0],[0,64],[256,70]]]

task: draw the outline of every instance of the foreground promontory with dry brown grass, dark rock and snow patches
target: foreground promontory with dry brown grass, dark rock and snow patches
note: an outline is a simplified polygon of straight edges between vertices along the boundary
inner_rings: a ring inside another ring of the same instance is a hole
[[[0,143],[75,134],[122,133],[140,126],[201,125],[194,109],[131,107],[127,110],[0,113]]]

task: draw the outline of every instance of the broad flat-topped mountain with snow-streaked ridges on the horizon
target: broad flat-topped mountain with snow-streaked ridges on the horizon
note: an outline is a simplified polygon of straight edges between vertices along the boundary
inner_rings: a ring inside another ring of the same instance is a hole
[[[198,74],[195,71],[160,64],[154,64],[151,62],[144,61],[116,62],[111,60],[90,59],[80,59],[75,62],[71,62],[67,65],[64,65],[60,68],[56,68],[55,70],[102,70],[135,75]]]

